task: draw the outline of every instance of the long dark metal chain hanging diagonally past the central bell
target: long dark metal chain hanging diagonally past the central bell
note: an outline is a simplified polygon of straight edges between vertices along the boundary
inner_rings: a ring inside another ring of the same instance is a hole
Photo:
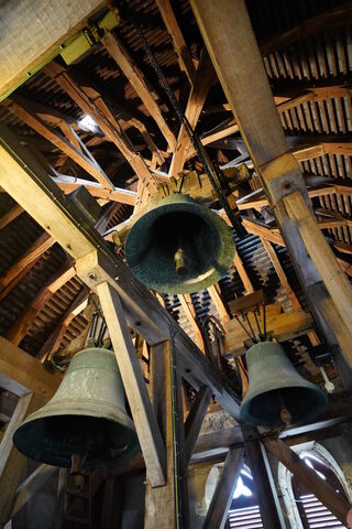
[[[174,91],[172,90],[158,62],[156,61],[156,57],[152,51],[152,48],[150,47],[148,43],[146,42],[146,39],[144,36],[144,33],[143,31],[141,30],[139,23],[136,22],[133,13],[131,12],[131,10],[128,8],[127,6],[127,1],[123,0],[120,2],[120,6],[123,6],[123,8],[127,8],[127,18],[129,19],[129,21],[131,22],[132,26],[134,28],[134,31],[136,32],[136,34],[139,35],[139,37],[141,39],[141,42],[142,42],[142,45],[143,45],[143,48],[146,53],[146,55],[148,56],[150,58],[150,62],[151,62],[151,65],[153,66],[158,79],[160,79],[160,83],[162,85],[162,87],[164,88],[173,108],[174,108],[174,111],[180,122],[180,125],[183,125],[185,127],[185,130],[186,130],[186,133],[188,136],[188,138],[190,139],[190,142],[191,144],[194,145],[197,154],[198,154],[198,158],[199,158],[199,161],[201,162],[202,166],[205,168],[206,172],[207,172],[207,175],[208,175],[208,179],[218,196],[218,199],[219,199],[219,203],[221,205],[221,207],[224,209],[226,214],[228,215],[233,228],[235,229],[237,234],[239,237],[243,237],[245,235],[245,230],[240,222],[240,219],[238,219],[228,202],[228,198],[223,192],[223,190],[221,188],[220,184],[219,184],[219,181],[221,181],[221,174],[220,174],[220,171],[218,168],[216,168],[209,160],[208,158],[208,154],[205,150],[205,147],[204,144],[201,143],[200,141],[200,138],[198,136],[198,133],[196,131],[194,131],[185,116],[185,114],[183,112],[180,106],[179,106],[179,102],[177,101],[176,97],[175,97],[175,94]]]

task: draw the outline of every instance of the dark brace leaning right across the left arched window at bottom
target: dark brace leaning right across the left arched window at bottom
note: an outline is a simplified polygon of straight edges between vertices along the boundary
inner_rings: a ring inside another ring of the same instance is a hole
[[[244,450],[230,449],[202,526],[204,529],[224,528],[243,463]]]

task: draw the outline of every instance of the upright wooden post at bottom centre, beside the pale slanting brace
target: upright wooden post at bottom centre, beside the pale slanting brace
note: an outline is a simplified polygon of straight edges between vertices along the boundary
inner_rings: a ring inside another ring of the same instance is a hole
[[[152,487],[146,474],[145,493],[145,529],[176,529],[187,527],[188,505],[182,505],[185,496],[182,493],[183,467],[179,464],[179,446],[177,445],[176,417],[182,403],[175,402],[175,384],[177,384],[169,342],[155,345],[151,349],[151,399],[166,446],[166,484]],[[179,388],[179,384],[177,384]],[[180,401],[180,399],[178,399]],[[182,430],[182,429],[180,429]],[[180,432],[182,433],[182,432]],[[180,511],[182,509],[182,511]],[[186,515],[186,516],[184,516]],[[178,520],[177,520],[178,518]],[[184,518],[184,519],[183,519]],[[186,521],[186,523],[184,523]]]

